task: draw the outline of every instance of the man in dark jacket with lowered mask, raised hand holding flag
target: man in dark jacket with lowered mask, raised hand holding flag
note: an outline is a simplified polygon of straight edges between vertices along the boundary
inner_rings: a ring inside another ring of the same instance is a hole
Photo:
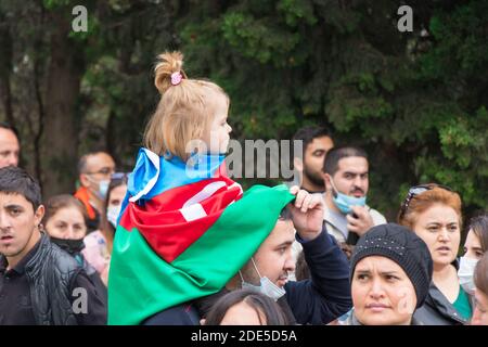
[[[326,324],[346,313],[352,307],[349,264],[325,231],[322,197],[297,187],[292,193],[296,194],[295,202],[283,210],[269,236],[222,292],[164,310],[143,324],[197,324],[218,297],[241,287],[275,299],[292,323]],[[310,280],[287,281],[288,272],[295,269],[295,239],[303,245]]]

